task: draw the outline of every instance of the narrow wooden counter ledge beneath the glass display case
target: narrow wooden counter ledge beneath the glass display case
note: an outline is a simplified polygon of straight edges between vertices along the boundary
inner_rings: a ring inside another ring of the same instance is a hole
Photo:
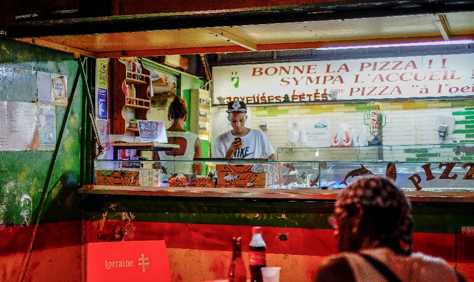
[[[342,190],[84,185],[81,194],[335,201]],[[405,191],[412,202],[474,202],[474,192]]]

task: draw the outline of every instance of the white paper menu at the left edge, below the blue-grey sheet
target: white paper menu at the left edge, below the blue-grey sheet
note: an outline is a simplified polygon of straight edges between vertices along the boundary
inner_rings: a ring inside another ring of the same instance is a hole
[[[0,151],[37,149],[37,115],[35,103],[0,101]]]

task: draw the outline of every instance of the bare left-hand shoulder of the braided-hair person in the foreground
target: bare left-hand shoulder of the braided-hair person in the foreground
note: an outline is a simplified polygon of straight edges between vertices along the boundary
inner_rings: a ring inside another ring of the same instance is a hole
[[[355,282],[355,280],[346,258],[333,256],[321,263],[313,282]]]

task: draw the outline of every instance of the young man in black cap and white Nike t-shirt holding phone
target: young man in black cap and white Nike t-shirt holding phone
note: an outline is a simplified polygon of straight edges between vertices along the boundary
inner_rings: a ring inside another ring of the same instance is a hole
[[[275,150],[260,130],[245,127],[247,106],[242,101],[227,105],[232,130],[219,135],[214,145],[213,158],[270,159],[276,161]]]

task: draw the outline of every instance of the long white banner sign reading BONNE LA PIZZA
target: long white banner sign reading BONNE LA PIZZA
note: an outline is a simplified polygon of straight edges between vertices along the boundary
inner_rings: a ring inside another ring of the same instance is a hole
[[[474,96],[474,54],[218,66],[213,104]]]

